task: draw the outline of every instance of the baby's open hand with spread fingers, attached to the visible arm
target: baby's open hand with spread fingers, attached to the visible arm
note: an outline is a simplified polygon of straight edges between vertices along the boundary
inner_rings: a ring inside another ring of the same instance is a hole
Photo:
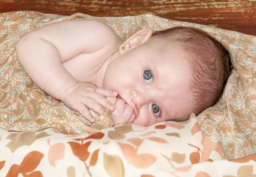
[[[105,97],[116,97],[117,92],[97,88],[91,83],[77,83],[67,89],[61,96],[61,101],[70,109],[79,112],[84,118],[93,123],[95,119],[90,114],[90,110],[98,114],[105,112],[105,108],[114,111],[115,107]]]

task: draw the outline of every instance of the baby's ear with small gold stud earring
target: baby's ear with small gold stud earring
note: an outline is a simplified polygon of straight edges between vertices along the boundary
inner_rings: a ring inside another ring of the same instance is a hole
[[[126,51],[129,51],[132,48],[142,45],[148,39],[151,38],[152,34],[152,29],[144,29],[138,31],[119,46],[119,53],[125,53]]]

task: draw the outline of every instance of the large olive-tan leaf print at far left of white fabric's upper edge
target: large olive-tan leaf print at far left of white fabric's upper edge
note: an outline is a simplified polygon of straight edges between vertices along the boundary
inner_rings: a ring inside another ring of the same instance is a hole
[[[50,136],[46,132],[21,132],[21,133],[12,133],[6,137],[6,139],[12,140],[9,142],[6,147],[8,147],[11,152],[15,152],[20,146],[30,146],[39,138],[44,138]]]

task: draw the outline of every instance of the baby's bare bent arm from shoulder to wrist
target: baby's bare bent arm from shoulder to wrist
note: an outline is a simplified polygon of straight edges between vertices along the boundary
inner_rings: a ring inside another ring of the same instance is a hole
[[[16,45],[17,57],[35,84],[49,96],[61,100],[65,91],[67,93],[70,88],[81,85],[62,63],[81,53],[103,48],[110,56],[117,46],[114,43],[118,39],[114,37],[116,34],[108,25],[96,20],[58,22],[32,31],[20,39]],[[93,84],[90,87],[94,87]],[[108,94],[113,95],[116,96]],[[111,105],[109,103],[106,108]]]

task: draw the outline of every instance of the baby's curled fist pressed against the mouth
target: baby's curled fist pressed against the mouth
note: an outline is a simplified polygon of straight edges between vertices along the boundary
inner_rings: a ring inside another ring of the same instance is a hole
[[[106,97],[113,105],[115,110],[112,112],[114,126],[119,124],[132,124],[135,119],[134,110],[125,103],[123,99],[116,97]]]

